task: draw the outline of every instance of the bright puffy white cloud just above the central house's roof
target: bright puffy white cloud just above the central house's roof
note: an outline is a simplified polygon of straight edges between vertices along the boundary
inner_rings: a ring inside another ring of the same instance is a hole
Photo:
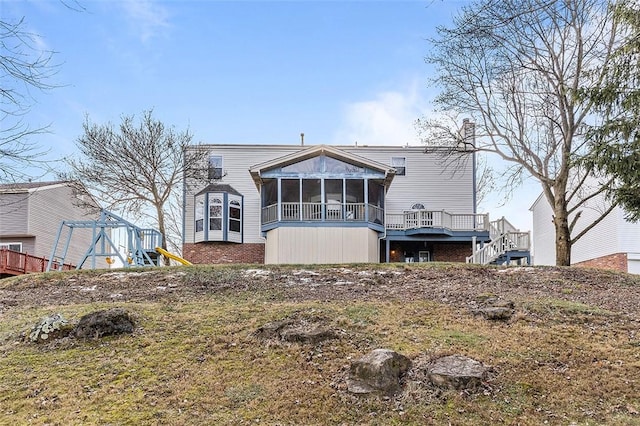
[[[426,109],[427,101],[414,83],[403,91],[381,92],[371,100],[348,104],[343,123],[333,137],[340,145],[416,145],[414,122]]]

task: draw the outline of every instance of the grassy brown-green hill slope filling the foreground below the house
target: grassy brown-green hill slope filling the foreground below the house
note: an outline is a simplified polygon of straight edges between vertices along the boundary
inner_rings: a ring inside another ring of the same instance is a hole
[[[472,311],[515,302],[507,322]],[[44,315],[128,310],[133,334],[33,344]],[[337,339],[262,340],[282,319]],[[640,424],[640,277],[453,264],[193,266],[0,281],[0,424]],[[375,348],[414,362],[393,398],[346,390]],[[463,354],[493,367],[474,392],[420,366]]]

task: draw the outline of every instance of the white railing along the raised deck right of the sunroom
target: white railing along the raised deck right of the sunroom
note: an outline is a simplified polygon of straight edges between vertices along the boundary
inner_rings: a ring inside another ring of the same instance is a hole
[[[488,231],[489,215],[412,210],[387,213],[387,229],[445,228],[452,231]]]

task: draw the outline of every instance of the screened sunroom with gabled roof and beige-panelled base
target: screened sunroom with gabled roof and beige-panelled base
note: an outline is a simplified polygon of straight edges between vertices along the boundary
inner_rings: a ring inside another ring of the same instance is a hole
[[[249,171],[267,263],[378,261],[393,168],[320,145]]]

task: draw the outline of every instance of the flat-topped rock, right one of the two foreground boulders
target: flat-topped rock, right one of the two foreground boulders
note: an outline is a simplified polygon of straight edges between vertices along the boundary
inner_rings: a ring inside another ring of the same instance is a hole
[[[464,355],[450,355],[432,361],[427,366],[427,377],[440,388],[474,389],[487,379],[490,370],[480,361]]]

